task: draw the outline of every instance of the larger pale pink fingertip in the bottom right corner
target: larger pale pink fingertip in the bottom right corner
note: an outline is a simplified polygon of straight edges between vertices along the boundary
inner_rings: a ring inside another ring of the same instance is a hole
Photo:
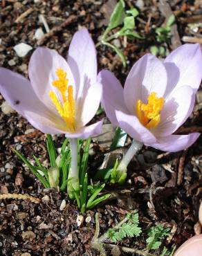
[[[181,245],[174,256],[201,256],[202,255],[202,235],[195,235],[194,237],[185,241]]]

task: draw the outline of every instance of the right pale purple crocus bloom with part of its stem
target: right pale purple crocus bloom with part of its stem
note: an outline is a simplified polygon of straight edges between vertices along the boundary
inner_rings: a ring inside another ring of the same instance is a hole
[[[190,116],[202,77],[199,44],[185,44],[165,61],[146,54],[134,64],[124,89],[113,73],[98,74],[103,86],[102,105],[111,123],[138,141],[165,152],[190,147],[199,133],[173,134]]]

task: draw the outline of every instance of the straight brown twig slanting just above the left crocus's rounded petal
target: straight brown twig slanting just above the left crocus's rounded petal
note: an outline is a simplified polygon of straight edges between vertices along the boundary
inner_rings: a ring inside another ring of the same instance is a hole
[[[65,28],[66,26],[68,26],[69,24],[74,22],[76,19],[77,19],[77,16],[70,15],[64,22],[62,22],[62,24],[60,24],[59,26],[55,26],[54,28],[50,29],[50,31],[48,33],[46,33],[41,39],[39,39],[37,41],[37,45],[40,46],[40,45],[44,44],[44,42],[46,42],[46,40],[49,37],[52,37],[53,35],[55,35],[55,33],[61,31],[63,28]]]

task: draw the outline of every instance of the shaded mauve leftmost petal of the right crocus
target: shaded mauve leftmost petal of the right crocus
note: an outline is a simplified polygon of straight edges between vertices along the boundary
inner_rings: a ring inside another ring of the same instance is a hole
[[[102,84],[102,106],[107,117],[114,126],[118,126],[116,110],[128,113],[123,98],[122,85],[110,71],[103,70],[98,74],[98,81]]]

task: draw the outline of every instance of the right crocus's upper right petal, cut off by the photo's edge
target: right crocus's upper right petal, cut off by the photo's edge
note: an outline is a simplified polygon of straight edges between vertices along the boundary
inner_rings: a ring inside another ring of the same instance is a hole
[[[202,57],[200,44],[184,44],[172,51],[165,59],[168,83],[165,95],[174,87],[191,86],[194,91],[199,88],[202,77]]]

